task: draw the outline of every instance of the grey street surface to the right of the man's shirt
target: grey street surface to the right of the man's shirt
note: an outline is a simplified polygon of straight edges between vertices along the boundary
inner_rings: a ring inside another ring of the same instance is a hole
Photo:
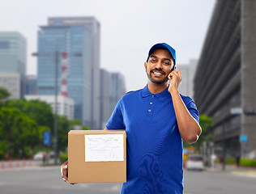
[[[185,171],[186,194],[252,194],[256,178],[236,175],[230,171]]]

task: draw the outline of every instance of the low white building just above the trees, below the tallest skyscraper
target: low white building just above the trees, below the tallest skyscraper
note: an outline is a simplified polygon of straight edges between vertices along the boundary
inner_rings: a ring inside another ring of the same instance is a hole
[[[58,95],[58,105],[57,114],[61,116],[66,116],[68,120],[74,119],[74,100],[63,95]],[[55,113],[55,95],[25,95],[25,99],[39,99],[45,103],[49,103]]]

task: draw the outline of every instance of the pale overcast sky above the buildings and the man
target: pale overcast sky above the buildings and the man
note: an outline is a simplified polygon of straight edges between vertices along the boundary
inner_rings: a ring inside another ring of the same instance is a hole
[[[39,26],[49,17],[94,16],[100,22],[100,67],[120,72],[126,91],[147,84],[144,62],[153,44],[166,42],[179,64],[200,57],[215,0],[0,0],[0,31],[26,39],[27,74],[37,74]]]

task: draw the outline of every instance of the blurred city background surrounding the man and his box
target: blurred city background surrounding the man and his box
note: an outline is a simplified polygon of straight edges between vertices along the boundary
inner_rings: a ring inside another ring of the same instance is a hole
[[[70,186],[58,165],[70,130],[104,129],[122,95],[147,84],[159,42],[177,50],[179,91],[203,129],[184,143],[185,192],[256,191],[256,1],[0,5],[0,193],[119,193],[121,183]]]

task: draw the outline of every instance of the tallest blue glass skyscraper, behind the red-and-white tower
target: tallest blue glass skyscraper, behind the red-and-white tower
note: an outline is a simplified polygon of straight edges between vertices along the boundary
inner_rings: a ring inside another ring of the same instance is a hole
[[[55,65],[60,92],[58,53],[67,52],[67,93],[75,101],[75,118],[100,129],[100,23],[94,17],[53,17],[40,28],[37,93],[54,94]]]

